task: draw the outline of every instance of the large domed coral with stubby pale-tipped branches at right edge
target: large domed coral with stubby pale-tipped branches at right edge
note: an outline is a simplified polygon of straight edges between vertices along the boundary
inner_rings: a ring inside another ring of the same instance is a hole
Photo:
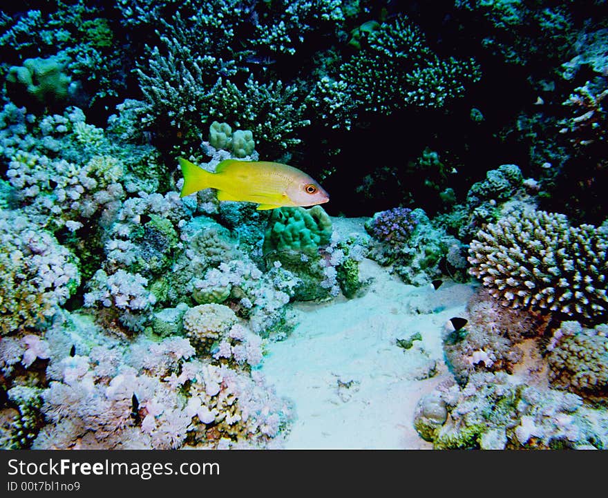
[[[513,213],[471,242],[468,261],[495,298],[514,308],[548,309],[597,321],[607,314],[608,234],[566,216]]]

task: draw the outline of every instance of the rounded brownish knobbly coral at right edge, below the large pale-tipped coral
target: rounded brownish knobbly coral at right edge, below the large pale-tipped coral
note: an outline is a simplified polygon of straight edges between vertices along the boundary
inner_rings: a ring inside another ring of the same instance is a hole
[[[562,322],[548,345],[549,379],[593,399],[608,392],[607,325],[585,329],[574,321]]]

